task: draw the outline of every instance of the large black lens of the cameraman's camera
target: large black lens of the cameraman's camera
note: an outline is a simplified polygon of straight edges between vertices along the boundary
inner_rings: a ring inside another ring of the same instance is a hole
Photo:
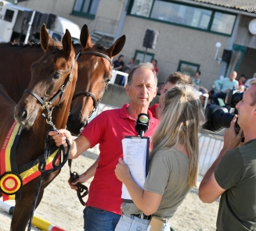
[[[205,108],[205,116],[207,122],[204,123],[203,128],[211,132],[219,133],[224,128],[229,128],[234,114],[229,113],[227,108],[208,104]],[[238,125],[236,125],[236,127],[237,126]]]

